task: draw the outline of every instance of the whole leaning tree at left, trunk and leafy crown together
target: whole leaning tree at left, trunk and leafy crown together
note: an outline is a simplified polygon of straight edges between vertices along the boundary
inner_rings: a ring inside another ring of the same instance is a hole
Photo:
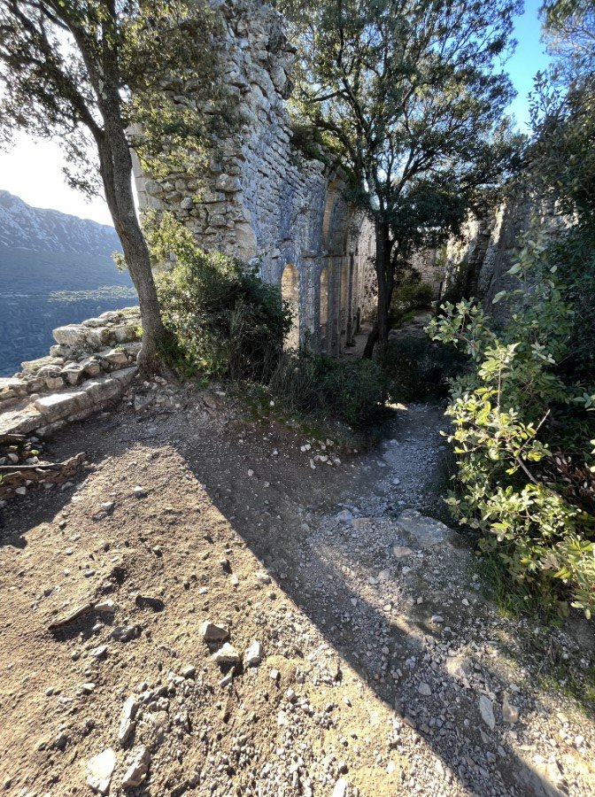
[[[216,24],[199,0],[0,0],[0,136],[56,137],[68,181],[88,194],[103,185],[138,292],[145,372],[159,368],[165,332],[135,213],[130,147],[151,159],[164,142],[172,157],[182,135],[187,149],[199,141],[200,116],[175,89],[209,89]]]

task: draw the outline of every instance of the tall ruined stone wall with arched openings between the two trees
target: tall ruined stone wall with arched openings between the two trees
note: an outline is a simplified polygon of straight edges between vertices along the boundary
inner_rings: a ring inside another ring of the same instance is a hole
[[[345,202],[341,175],[292,144],[295,50],[281,15],[254,0],[217,6],[221,81],[241,128],[213,140],[207,174],[157,182],[136,164],[140,205],[173,212],[205,249],[258,262],[295,308],[293,342],[307,336],[314,348],[341,352],[373,307],[367,224]]]

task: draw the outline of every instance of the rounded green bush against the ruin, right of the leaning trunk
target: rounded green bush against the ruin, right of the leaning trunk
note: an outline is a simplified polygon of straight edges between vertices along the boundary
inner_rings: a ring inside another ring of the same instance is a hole
[[[290,330],[279,291],[220,252],[197,248],[165,214],[145,225],[151,254],[174,265],[157,278],[158,298],[171,334],[168,359],[187,376],[267,381]]]

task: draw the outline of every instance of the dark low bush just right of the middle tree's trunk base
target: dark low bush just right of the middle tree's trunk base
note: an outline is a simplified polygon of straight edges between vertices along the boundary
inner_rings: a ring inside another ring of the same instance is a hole
[[[462,373],[468,358],[429,337],[408,335],[390,340],[378,362],[388,380],[390,399],[408,402],[445,396],[448,380]]]

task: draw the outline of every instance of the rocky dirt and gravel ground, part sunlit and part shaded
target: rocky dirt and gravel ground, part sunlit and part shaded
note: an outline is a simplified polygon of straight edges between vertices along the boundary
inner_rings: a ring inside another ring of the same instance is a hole
[[[55,433],[75,481],[4,508],[4,793],[593,793],[592,718],[543,683],[592,667],[591,630],[483,597],[431,519],[439,406],[355,451],[146,387]]]

